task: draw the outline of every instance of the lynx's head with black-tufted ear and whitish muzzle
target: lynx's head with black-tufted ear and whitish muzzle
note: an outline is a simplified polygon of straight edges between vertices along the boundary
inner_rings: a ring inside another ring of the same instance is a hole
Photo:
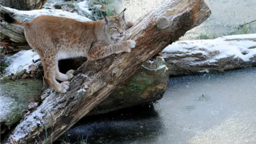
[[[104,17],[106,24],[106,34],[118,41],[123,41],[125,36],[126,22],[124,19],[124,11],[126,8],[119,14],[112,17]]]

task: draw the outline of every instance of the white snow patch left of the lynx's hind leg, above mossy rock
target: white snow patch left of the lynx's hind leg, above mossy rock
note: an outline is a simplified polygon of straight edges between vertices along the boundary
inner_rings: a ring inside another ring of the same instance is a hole
[[[15,74],[18,71],[21,71],[23,69],[26,69],[29,71],[29,66],[35,65],[38,66],[40,61],[33,62],[33,60],[38,60],[40,57],[36,52],[33,52],[32,50],[23,50],[20,51],[8,59],[11,61],[11,65],[5,68],[5,74],[10,75],[11,73]]]

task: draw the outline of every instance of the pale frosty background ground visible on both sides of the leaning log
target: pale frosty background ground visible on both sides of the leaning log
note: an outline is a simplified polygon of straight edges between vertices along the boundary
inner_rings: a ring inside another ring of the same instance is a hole
[[[116,0],[120,2],[120,0]],[[152,7],[161,3],[158,0],[123,0],[119,9],[127,8],[125,17],[127,20],[137,20],[143,14],[151,11]],[[181,40],[199,39],[201,35],[213,37],[214,35],[242,34],[243,30],[237,29],[239,25],[256,20],[255,0],[205,0],[212,14],[201,25],[189,30]],[[247,25],[250,33],[256,33],[256,22]]]

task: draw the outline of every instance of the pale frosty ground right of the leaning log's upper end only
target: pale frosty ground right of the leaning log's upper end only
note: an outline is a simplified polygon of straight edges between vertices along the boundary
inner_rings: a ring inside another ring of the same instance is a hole
[[[239,25],[256,20],[255,0],[205,0],[212,14],[201,25],[189,30],[181,40],[207,37],[243,34]],[[249,33],[256,33],[256,22],[246,25]]]

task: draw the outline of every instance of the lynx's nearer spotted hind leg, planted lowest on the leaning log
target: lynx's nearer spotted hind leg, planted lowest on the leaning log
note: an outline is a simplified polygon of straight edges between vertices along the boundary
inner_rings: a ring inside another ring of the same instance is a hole
[[[44,77],[47,81],[47,83],[57,92],[65,93],[69,89],[69,82],[62,82],[59,83],[55,79],[55,71],[57,69],[56,67],[56,61],[57,61],[57,56],[53,57],[47,57],[44,58],[42,57],[42,63],[44,67]],[[63,74],[64,75],[64,74]]]

